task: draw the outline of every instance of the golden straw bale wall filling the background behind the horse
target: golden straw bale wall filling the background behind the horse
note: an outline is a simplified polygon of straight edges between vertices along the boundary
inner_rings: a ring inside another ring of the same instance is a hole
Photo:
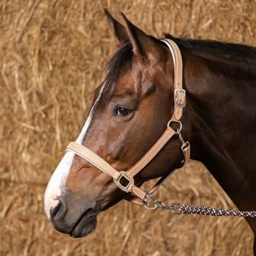
[[[0,254],[251,255],[244,219],[173,216],[121,202],[98,229],[74,239],[53,230],[43,192],[88,114],[114,40],[103,8],[123,11],[146,33],[255,43],[255,1],[0,2]],[[232,182],[232,181],[231,181]],[[202,165],[165,184],[168,202],[235,208]]]

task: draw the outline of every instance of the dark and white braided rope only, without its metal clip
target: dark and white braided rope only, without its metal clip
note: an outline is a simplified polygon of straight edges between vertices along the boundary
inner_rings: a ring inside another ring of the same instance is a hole
[[[256,211],[225,210],[206,206],[193,206],[177,204],[178,211],[175,213],[201,214],[210,216],[237,216],[237,217],[256,217]]]

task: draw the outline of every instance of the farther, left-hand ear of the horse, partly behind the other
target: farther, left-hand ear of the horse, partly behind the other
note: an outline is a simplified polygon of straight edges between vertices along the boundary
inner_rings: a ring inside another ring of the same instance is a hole
[[[122,24],[115,20],[106,8],[104,9],[104,12],[107,18],[107,23],[110,25],[110,30],[112,31],[114,37],[117,40],[117,46],[120,46],[120,44],[122,43],[128,42],[129,37],[125,27],[123,27]]]

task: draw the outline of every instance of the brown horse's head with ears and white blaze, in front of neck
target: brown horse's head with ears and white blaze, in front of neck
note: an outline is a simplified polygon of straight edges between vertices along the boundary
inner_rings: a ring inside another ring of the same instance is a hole
[[[165,43],[145,34],[123,14],[124,26],[107,10],[105,14],[117,50],[108,62],[104,82],[94,91],[76,142],[116,170],[126,171],[166,129],[174,106],[174,63]],[[184,134],[188,139],[186,127]],[[136,174],[136,186],[162,177],[182,160],[181,141],[174,136]],[[125,197],[112,178],[84,158],[66,152],[46,188],[45,212],[57,230],[82,237],[95,229],[98,213]]]

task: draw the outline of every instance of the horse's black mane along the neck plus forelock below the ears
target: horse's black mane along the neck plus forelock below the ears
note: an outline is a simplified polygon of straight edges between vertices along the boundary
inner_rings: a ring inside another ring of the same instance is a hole
[[[160,42],[155,37],[151,37],[155,42]],[[198,50],[205,53],[213,53],[223,58],[241,61],[256,61],[256,48],[236,43],[222,43],[214,40],[194,40],[172,37],[165,34],[165,38],[173,40],[183,50]],[[130,69],[133,59],[133,46],[130,42],[120,45],[114,55],[107,62],[107,85],[105,90],[114,88],[117,78],[127,69]],[[113,86],[113,87],[112,87]]]

